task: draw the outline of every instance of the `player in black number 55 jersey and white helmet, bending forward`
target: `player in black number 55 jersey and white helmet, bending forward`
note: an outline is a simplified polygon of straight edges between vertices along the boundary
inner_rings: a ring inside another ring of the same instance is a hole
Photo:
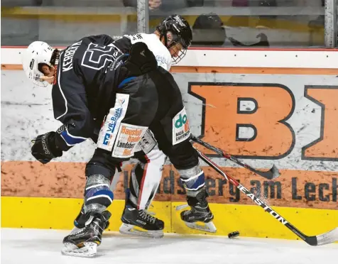
[[[144,71],[147,72],[148,70],[145,70],[147,63],[140,65],[139,61],[131,60],[132,56],[129,57],[127,62],[124,62],[126,55],[111,41],[111,38],[107,35],[90,36],[74,43],[62,53],[50,48],[46,43],[35,43],[28,48],[26,63],[25,60],[23,63],[28,78],[32,79],[33,82],[42,85],[48,82],[53,83],[52,95],[55,119],[63,123],[58,131],[45,133],[36,138],[32,147],[32,154],[41,163],[48,163],[51,159],[60,157],[62,151],[67,151],[73,145],[81,143],[87,138],[93,138],[96,141],[94,128],[99,128],[99,123],[104,119],[104,116],[108,112],[110,114],[105,119],[105,133],[102,132],[102,128],[98,148],[86,167],[87,184],[84,193],[84,214],[87,216],[87,221],[83,229],[65,238],[65,244],[70,246],[65,253],[73,253],[74,255],[94,254],[93,247],[95,247],[95,244],[100,243],[102,231],[107,226],[107,220],[109,219],[109,212],[105,209],[113,199],[113,194],[109,189],[111,175],[114,175],[114,170],[122,160],[128,159],[133,155],[138,141],[145,135],[148,126],[151,126],[151,124],[148,124],[149,121],[143,126],[133,124],[135,123],[133,122],[135,116],[138,116],[136,123],[141,120],[144,121],[144,116],[146,115],[143,116],[142,111],[146,111],[147,114],[149,111],[148,106],[151,104],[143,105],[142,109],[138,109],[130,123],[123,123],[124,121],[129,121],[127,116],[123,116],[126,115],[126,109],[124,108],[133,109],[132,105],[136,104],[137,98],[143,98],[143,93],[138,90],[137,87],[139,85],[136,85],[136,90],[131,89],[126,94],[122,92],[119,96],[117,96],[116,89],[121,88],[119,91],[122,91],[124,86],[128,87],[129,82],[133,81],[129,77],[136,77],[139,74],[143,74]],[[173,45],[172,47],[177,48],[179,52],[180,48],[185,49],[189,44],[181,40],[179,45]],[[146,49],[143,51],[146,52]],[[149,56],[146,54],[144,57]],[[175,53],[174,57],[178,57],[178,53]],[[138,57],[138,59],[140,58],[142,57]],[[156,59],[158,58],[156,57]],[[158,89],[158,84],[155,84],[155,87]],[[128,99],[126,95],[128,95]],[[153,100],[151,101],[153,103]],[[114,107],[111,108],[112,106]],[[130,112],[128,111],[127,114],[130,114]],[[163,115],[163,113],[159,115]],[[153,116],[154,120],[156,116]],[[178,116],[178,119],[186,115],[182,112],[180,116]],[[116,120],[119,120],[120,123],[116,122]],[[162,136],[168,136],[161,129],[156,132],[156,126],[153,127],[152,133],[154,135],[161,135],[162,133]],[[182,134],[176,138],[178,141],[184,138],[185,133],[179,131],[178,134]],[[170,161],[175,164],[175,161],[173,162],[175,160],[173,153],[166,150],[168,144],[167,146],[166,144],[160,145],[160,148],[163,152],[165,151]],[[188,204],[192,206],[191,211],[185,211],[182,214],[182,219],[193,221],[191,217],[188,217],[189,214],[194,214],[194,210],[195,212],[204,210],[205,217],[203,217],[203,220],[211,221],[213,216],[209,208],[207,206],[203,208],[198,206],[198,201],[204,205],[207,205],[207,202],[203,188],[203,173],[198,169],[190,170],[196,166],[198,167],[198,160],[197,165],[187,165],[188,169],[183,168],[185,166],[180,167],[178,165],[182,180],[190,183],[186,187],[188,190]],[[190,176],[197,171],[198,175],[192,177],[190,181]],[[189,186],[196,181],[200,185],[197,188],[190,188]],[[129,207],[129,204],[126,205],[127,207]],[[199,207],[201,208],[200,210],[198,210]],[[138,214],[138,216],[140,215]],[[136,216],[136,220],[138,216]],[[185,218],[185,216],[187,217]],[[146,219],[149,224],[152,224],[153,219],[151,217],[146,216]],[[197,218],[195,217],[195,219]],[[129,220],[126,219],[126,221]],[[84,242],[88,242],[87,246],[84,245]]]

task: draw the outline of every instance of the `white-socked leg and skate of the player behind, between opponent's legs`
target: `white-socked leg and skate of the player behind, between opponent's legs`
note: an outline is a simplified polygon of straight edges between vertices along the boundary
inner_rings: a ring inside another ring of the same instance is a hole
[[[148,214],[148,207],[160,184],[166,156],[158,149],[151,131],[146,132],[139,146],[143,151],[135,155],[139,162],[131,171],[120,232],[160,238],[163,237],[164,222]]]

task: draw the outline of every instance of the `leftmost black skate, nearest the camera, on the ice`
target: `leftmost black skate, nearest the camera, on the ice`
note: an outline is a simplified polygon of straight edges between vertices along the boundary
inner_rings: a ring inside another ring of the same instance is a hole
[[[94,257],[97,253],[97,246],[102,241],[102,233],[107,226],[111,213],[104,211],[102,214],[89,215],[84,228],[63,238],[63,255],[75,257]]]

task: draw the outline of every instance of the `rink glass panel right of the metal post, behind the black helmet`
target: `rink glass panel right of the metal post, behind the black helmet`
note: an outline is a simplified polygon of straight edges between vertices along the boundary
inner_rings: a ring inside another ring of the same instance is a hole
[[[197,47],[320,48],[325,46],[324,12],[324,0],[163,0],[149,12],[149,31],[178,13],[192,26]],[[201,18],[205,13],[218,18]]]

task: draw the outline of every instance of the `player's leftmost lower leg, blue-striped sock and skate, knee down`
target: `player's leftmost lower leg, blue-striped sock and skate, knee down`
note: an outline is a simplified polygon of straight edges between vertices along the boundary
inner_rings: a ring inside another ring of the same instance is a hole
[[[107,150],[97,148],[86,166],[84,203],[75,220],[77,229],[63,239],[65,255],[91,257],[102,242],[102,232],[107,228],[111,213],[107,211],[114,199],[110,189],[111,177],[120,160],[111,157]]]

